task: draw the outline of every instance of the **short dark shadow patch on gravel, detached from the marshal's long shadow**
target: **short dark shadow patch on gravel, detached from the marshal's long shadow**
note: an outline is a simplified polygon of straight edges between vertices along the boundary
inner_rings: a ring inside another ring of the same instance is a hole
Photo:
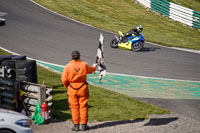
[[[170,122],[178,120],[178,117],[172,118],[151,118],[148,123],[144,124],[144,126],[160,126],[166,125]]]

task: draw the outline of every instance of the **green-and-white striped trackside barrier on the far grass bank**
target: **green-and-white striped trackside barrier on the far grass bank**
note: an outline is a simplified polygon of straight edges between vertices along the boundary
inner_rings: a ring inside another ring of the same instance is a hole
[[[142,5],[173,20],[200,29],[200,12],[174,4],[167,0],[137,0]]]

